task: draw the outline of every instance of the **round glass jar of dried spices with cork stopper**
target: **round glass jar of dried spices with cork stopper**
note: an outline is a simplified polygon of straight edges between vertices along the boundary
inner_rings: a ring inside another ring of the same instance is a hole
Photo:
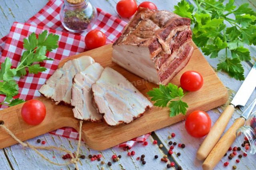
[[[68,31],[89,31],[96,20],[97,10],[89,0],[64,0],[60,10],[60,21]]]

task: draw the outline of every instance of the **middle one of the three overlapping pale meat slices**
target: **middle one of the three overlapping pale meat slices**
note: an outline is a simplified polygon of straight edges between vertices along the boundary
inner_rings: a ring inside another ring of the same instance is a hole
[[[92,105],[91,86],[100,78],[103,70],[99,63],[93,63],[74,76],[71,105],[74,106],[73,113],[77,119],[90,121],[102,119],[102,114]]]

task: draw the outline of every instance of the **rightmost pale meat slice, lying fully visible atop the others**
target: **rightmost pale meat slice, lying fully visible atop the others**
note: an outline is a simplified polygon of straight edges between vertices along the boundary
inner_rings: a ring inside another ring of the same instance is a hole
[[[110,67],[92,84],[92,102],[110,126],[130,123],[153,107],[124,76]]]

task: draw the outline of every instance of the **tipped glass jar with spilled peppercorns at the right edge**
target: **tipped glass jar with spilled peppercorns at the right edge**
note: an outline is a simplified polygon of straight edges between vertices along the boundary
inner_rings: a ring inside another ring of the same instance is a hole
[[[243,152],[246,154],[256,153],[256,111],[250,114],[245,126],[236,131],[236,137],[241,144],[244,144],[244,147],[241,147]]]

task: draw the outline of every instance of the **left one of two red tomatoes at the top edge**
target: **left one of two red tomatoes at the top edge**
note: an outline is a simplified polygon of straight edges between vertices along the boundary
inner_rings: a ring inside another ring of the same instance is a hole
[[[120,0],[116,4],[116,11],[122,17],[129,18],[137,11],[137,4],[135,0]]]

